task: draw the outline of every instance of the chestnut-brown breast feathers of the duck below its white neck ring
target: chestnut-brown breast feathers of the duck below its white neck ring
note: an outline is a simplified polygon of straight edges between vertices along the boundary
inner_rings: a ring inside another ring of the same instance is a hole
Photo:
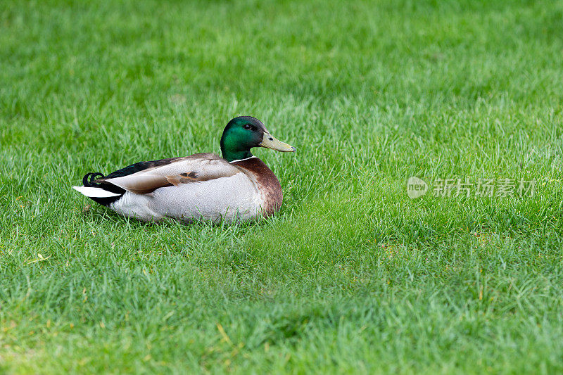
[[[266,207],[263,208],[265,215],[272,215],[272,213],[281,208],[281,201],[283,201],[281,185],[274,172],[262,160],[254,156],[253,158],[236,161],[232,164],[240,167],[243,172],[252,174],[258,184],[258,189],[265,197]]]

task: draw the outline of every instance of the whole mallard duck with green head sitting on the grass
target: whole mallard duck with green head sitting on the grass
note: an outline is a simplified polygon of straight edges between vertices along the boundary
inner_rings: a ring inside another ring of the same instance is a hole
[[[267,217],[281,207],[281,185],[251,148],[294,152],[260,120],[235,117],[221,136],[222,158],[196,153],[143,161],[104,176],[88,173],[72,186],[119,215],[145,222],[167,217],[183,222],[234,222]]]

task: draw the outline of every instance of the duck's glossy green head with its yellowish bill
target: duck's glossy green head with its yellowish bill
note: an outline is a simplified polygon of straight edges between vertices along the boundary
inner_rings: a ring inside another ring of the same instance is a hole
[[[232,162],[250,158],[251,148],[266,147],[283,152],[294,152],[295,147],[275,139],[260,120],[251,116],[234,117],[224,128],[221,137],[223,158]]]

